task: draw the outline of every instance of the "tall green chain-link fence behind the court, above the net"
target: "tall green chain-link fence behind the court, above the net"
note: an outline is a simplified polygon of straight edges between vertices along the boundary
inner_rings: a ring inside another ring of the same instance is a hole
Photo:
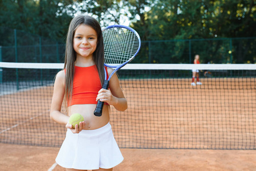
[[[0,27],[0,61],[63,63],[65,44]],[[256,37],[142,41],[133,63],[256,63]]]

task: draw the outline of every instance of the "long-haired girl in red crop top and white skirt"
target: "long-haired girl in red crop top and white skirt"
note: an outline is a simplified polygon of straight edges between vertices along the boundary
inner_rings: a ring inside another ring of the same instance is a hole
[[[109,124],[109,105],[118,111],[127,109],[127,100],[117,75],[109,89],[101,89],[104,70],[101,28],[96,19],[79,15],[72,19],[67,34],[64,70],[56,75],[51,103],[51,119],[66,125],[67,135],[56,162],[66,170],[112,170],[123,161]],[[104,101],[102,116],[94,115],[97,100]],[[61,113],[62,101],[67,115]],[[84,121],[72,128],[69,116],[80,113]]]

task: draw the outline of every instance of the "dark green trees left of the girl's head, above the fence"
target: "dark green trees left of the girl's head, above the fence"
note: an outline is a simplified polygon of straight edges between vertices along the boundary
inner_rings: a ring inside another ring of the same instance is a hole
[[[0,7],[0,26],[63,40],[72,19],[65,13],[63,5],[70,2],[72,1],[4,0]]]

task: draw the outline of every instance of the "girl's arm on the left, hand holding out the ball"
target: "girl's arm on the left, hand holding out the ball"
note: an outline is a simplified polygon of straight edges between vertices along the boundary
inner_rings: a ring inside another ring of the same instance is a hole
[[[84,121],[78,125],[76,125],[75,129],[72,128],[71,124],[68,124],[69,116],[64,115],[61,111],[62,109],[62,101],[64,97],[64,83],[65,83],[65,72],[60,71],[56,75],[55,83],[54,83],[54,94],[52,96],[51,101],[51,111],[50,117],[56,123],[65,124],[66,128],[70,128],[73,133],[79,133],[85,127]]]

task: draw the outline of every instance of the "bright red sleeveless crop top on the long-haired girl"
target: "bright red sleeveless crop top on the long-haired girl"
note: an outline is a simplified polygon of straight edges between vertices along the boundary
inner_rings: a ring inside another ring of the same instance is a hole
[[[107,67],[105,70],[107,72]],[[96,97],[100,89],[101,83],[96,65],[91,67],[75,66],[72,100],[68,100],[68,107],[74,104],[97,104]]]

